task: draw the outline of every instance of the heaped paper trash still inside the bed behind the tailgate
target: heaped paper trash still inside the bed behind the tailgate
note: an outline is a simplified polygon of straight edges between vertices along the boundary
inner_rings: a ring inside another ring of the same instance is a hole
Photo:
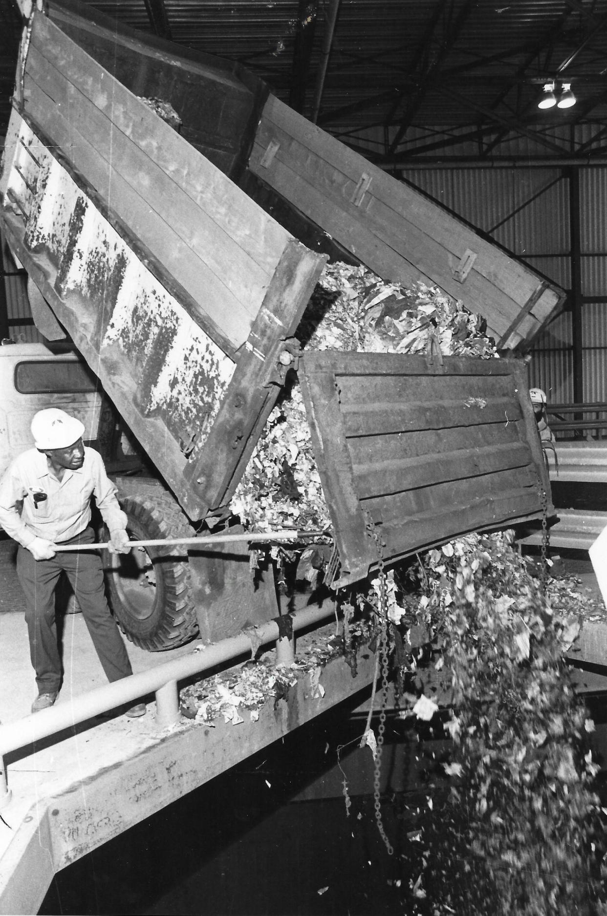
[[[327,264],[295,333],[304,350],[495,355],[486,322],[437,287],[404,289],[367,267]],[[246,529],[325,529],[329,514],[296,379],[270,413],[231,502]]]

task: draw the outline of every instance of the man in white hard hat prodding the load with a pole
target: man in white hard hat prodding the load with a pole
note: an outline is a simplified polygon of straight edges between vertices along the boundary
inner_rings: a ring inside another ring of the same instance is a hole
[[[61,656],[55,589],[62,572],[72,584],[107,680],[132,674],[127,649],[105,599],[104,572],[94,551],[57,552],[59,544],[94,542],[91,498],[110,531],[109,550],[126,553],[127,517],[101,455],[83,445],[84,426],[63,410],[39,410],[31,422],[35,448],[19,455],[0,481],[0,525],[17,540],[17,576],[26,595],[29,651],[38,697],[32,713],[57,699]],[[143,715],[144,703],[127,710]]]

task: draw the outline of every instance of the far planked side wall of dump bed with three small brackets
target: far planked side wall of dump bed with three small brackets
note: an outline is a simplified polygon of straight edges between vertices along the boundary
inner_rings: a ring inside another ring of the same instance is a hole
[[[270,95],[251,172],[387,280],[445,289],[500,347],[531,341],[564,293]]]

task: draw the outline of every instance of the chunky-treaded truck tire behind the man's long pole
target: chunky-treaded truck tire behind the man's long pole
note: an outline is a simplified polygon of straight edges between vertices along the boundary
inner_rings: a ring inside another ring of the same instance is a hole
[[[172,497],[125,496],[132,540],[157,540],[193,535],[182,510]],[[175,560],[167,557],[173,556]],[[190,587],[186,548],[133,548],[130,553],[105,551],[108,600],[120,629],[141,649],[161,652],[175,649],[198,634]]]

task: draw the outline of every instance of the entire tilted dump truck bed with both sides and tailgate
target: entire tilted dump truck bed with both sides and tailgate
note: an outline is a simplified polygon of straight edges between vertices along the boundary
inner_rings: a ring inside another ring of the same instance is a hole
[[[181,133],[149,99],[171,104]],[[51,338],[72,337],[191,519],[229,502],[295,365],[292,335],[327,255],[407,286],[437,284],[483,314],[504,348],[528,343],[562,300],[561,290],[310,125],[246,71],[116,30],[72,3],[50,3],[29,24],[0,190],[9,244],[50,305],[39,326]],[[392,519],[394,531],[407,532],[391,536],[394,557],[542,514],[549,486],[520,365],[446,359],[428,367],[420,357],[378,354],[351,370],[351,358],[337,359],[337,376],[392,379],[375,410],[380,427],[385,416],[403,425],[368,431],[380,436],[379,451],[362,474],[351,433],[340,428],[336,465],[336,428],[324,418],[335,416],[331,392],[339,408],[342,381],[329,372],[330,390],[315,390],[315,354],[303,356],[317,460],[350,579],[373,562],[351,545],[366,513],[371,527],[382,523],[378,498],[404,513]],[[499,390],[495,374],[507,379]],[[451,376],[459,381],[447,383]],[[458,390],[455,412],[449,385]],[[469,398],[476,403],[464,417]],[[399,412],[410,400],[421,407]],[[457,421],[447,420],[450,410]],[[415,430],[424,443],[394,453]],[[350,471],[359,508],[335,495]],[[405,492],[410,499],[394,498]],[[464,511],[467,501],[473,510]],[[441,527],[445,505],[453,511]]]

